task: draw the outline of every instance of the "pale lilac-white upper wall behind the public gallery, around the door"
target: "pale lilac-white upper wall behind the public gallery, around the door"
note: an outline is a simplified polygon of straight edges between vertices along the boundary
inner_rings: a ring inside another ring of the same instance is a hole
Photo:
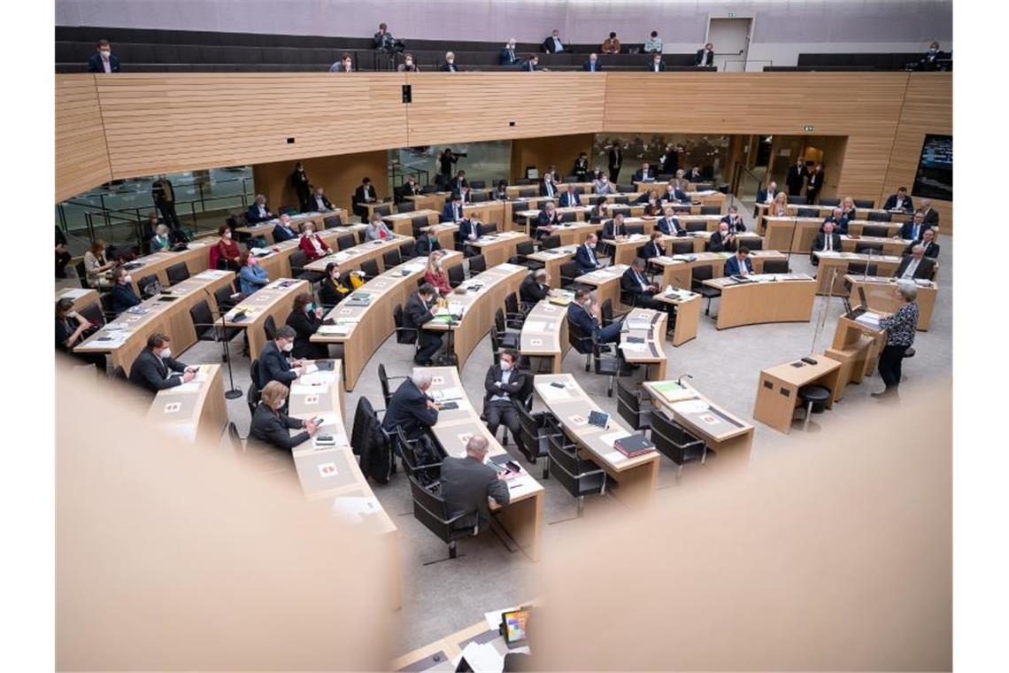
[[[775,66],[794,66],[800,52],[924,52],[933,39],[952,46],[950,0],[55,1],[58,25],[370,36],[385,21],[405,40],[538,42],[557,28],[578,43],[601,42],[610,30],[641,42],[655,29],[669,52],[698,48],[708,17],[730,12],[754,19],[751,62]]]

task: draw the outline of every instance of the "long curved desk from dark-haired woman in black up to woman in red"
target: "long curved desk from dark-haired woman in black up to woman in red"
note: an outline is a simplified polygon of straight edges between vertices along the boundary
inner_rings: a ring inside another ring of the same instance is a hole
[[[447,251],[442,263],[446,269],[462,263],[462,253]],[[315,343],[343,344],[343,384],[347,390],[354,389],[371,355],[396,331],[393,311],[398,304],[407,304],[426,268],[427,260],[410,259],[371,278],[353,293],[355,297],[370,297],[366,306],[337,304],[326,314],[326,320],[336,324],[324,325],[312,335]]]

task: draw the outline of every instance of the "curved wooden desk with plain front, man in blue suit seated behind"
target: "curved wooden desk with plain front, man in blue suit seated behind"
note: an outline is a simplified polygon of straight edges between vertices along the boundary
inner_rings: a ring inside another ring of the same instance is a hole
[[[719,330],[759,323],[807,323],[813,315],[816,281],[805,273],[755,273],[752,282],[731,277],[704,281],[721,291]]]

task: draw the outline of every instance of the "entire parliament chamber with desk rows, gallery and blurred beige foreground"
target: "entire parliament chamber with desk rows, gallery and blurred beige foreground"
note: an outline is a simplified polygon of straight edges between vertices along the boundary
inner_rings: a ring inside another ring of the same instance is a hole
[[[951,41],[58,0],[57,667],[948,670]]]

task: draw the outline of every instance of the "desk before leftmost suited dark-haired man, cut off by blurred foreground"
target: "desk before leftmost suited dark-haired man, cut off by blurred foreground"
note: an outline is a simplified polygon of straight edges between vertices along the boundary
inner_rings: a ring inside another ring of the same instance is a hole
[[[196,378],[188,383],[158,390],[147,411],[147,423],[192,444],[217,446],[228,425],[224,402],[223,367],[201,364]]]

